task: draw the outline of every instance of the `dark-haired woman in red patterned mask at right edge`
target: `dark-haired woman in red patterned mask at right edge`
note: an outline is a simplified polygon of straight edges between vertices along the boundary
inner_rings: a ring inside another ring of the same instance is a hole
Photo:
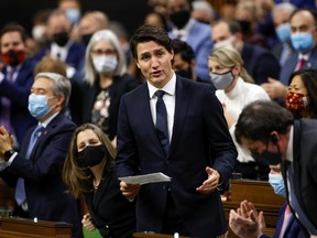
[[[317,118],[317,71],[302,69],[289,76],[285,106],[295,118]]]

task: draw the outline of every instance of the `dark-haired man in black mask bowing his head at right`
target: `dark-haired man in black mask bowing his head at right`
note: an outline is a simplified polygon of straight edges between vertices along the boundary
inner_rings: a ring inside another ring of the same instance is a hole
[[[259,100],[243,109],[234,134],[256,160],[282,163],[292,213],[305,237],[316,236],[317,121],[294,121],[292,112],[276,102]]]

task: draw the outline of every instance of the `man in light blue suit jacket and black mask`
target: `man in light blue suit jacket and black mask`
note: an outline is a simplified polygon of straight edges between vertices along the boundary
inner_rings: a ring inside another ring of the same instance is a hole
[[[205,82],[209,82],[208,55],[212,48],[211,26],[190,18],[189,0],[167,0],[171,20],[171,39],[187,42],[195,52],[195,74]]]

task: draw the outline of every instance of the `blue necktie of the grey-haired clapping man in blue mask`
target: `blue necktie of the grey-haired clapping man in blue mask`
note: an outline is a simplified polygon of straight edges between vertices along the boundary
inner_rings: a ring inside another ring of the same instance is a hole
[[[26,155],[25,155],[26,160],[30,159],[32,150],[43,130],[44,130],[44,127],[42,125],[39,125],[33,131],[33,133],[31,134],[31,140],[30,140]],[[15,201],[18,205],[21,205],[25,199],[26,199],[26,195],[25,195],[25,188],[24,188],[24,178],[18,177],[17,188],[15,188]]]

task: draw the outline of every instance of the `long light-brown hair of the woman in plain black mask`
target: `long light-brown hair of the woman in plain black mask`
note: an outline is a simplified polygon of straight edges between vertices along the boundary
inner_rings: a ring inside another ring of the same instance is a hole
[[[78,166],[76,160],[78,155],[77,137],[79,132],[85,130],[91,130],[98,137],[101,144],[106,147],[107,155],[105,158],[105,171],[111,172],[114,169],[114,158],[117,152],[103,131],[92,123],[85,123],[78,127],[73,134],[70,147],[63,167],[63,181],[68,186],[68,192],[75,197],[79,197],[80,193],[88,193],[94,190],[94,176],[91,171],[89,169]]]

